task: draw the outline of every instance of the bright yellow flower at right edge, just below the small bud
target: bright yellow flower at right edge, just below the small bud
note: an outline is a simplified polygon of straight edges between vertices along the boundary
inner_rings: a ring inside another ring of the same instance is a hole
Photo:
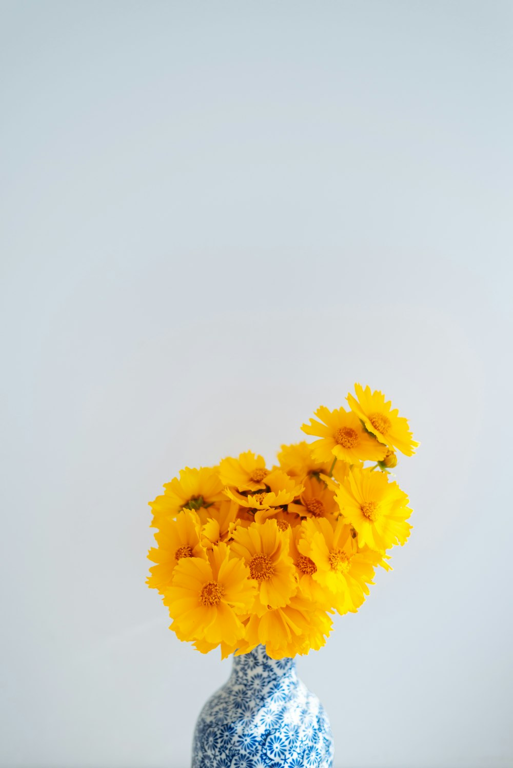
[[[336,493],[343,521],[358,535],[358,545],[385,551],[404,544],[412,528],[408,496],[386,472],[352,469]]]

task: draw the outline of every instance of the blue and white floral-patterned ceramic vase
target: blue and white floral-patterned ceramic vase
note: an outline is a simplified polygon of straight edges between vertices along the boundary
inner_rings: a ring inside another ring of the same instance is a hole
[[[192,768],[332,768],[333,737],[293,659],[259,645],[233,657],[230,678],[196,723]]]

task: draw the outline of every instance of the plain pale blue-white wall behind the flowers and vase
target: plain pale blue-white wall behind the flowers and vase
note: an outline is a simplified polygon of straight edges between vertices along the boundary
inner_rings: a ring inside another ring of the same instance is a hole
[[[511,31],[2,3],[2,766],[188,765],[230,662],[167,630],[147,502],[355,381],[422,445],[394,571],[298,662],[336,766],[511,765]]]

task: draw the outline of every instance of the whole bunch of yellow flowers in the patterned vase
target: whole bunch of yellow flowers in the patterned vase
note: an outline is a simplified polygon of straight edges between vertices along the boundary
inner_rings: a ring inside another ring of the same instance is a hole
[[[276,659],[307,654],[335,611],[358,610],[376,566],[389,570],[412,514],[389,468],[419,444],[382,392],[355,392],[349,410],[321,406],[302,427],[318,439],[283,445],[277,466],[248,451],[187,467],[151,502],[147,584],[180,640],[223,657],[259,644]]]

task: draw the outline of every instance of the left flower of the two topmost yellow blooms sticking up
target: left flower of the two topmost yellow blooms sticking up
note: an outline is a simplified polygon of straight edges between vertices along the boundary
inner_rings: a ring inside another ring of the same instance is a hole
[[[348,464],[359,461],[379,462],[385,458],[386,447],[369,435],[352,412],[343,408],[330,411],[326,406],[320,406],[315,414],[316,419],[310,419],[309,424],[303,424],[301,429],[307,435],[317,435],[319,440],[310,444],[313,458],[319,462],[328,462],[333,456]]]

